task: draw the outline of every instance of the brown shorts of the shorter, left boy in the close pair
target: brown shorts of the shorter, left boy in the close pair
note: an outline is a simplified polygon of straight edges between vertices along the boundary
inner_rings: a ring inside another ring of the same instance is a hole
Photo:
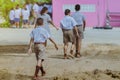
[[[63,43],[68,42],[74,43],[74,34],[73,30],[63,30]]]

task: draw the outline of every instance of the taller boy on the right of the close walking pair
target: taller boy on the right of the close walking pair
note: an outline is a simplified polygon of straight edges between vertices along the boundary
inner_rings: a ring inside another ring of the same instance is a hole
[[[79,37],[77,37],[76,33],[75,33],[75,36],[76,36],[75,57],[80,57],[81,56],[81,54],[80,54],[81,43],[82,43],[82,39],[84,37],[83,31],[85,30],[86,21],[85,21],[85,16],[79,12],[80,11],[80,5],[79,4],[75,5],[75,10],[76,10],[76,12],[74,14],[72,14],[72,17],[77,22],[77,28],[78,28],[78,33],[79,33]]]

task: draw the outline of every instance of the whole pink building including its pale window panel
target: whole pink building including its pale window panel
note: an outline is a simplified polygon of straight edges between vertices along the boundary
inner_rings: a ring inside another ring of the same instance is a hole
[[[81,12],[86,16],[87,27],[104,27],[106,13],[109,11],[110,25],[120,26],[120,0],[52,0],[53,21],[59,26],[64,17],[64,10],[74,11],[74,5],[81,5]]]

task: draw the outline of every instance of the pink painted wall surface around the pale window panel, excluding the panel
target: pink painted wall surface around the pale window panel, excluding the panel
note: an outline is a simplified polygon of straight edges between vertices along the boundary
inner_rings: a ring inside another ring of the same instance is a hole
[[[53,21],[59,26],[60,20],[64,17],[63,5],[65,4],[94,4],[95,12],[84,12],[87,27],[105,26],[107,0],[52,0]],[[99,5],[98,5],[99,2]],[[108,0],[110,12],[120,12],[120,0]],[[99,17],[98,17],[99,15]],[[98,22],[99,21],[99,22]],[[120,26],[120,22],[112,22],[113,26]]]

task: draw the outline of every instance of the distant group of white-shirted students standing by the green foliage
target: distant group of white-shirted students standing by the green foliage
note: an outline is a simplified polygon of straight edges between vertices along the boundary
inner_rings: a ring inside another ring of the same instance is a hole
[[[52,5],[48,3],[25,3],[22,8],[20,8],[19,4],[17,4],[16,7],[11,8],[9,12],[9,20],[11,27],[28,28],[30,25],[35,25],[36,19],[38,18],[43,7],[46,7],[48,9],[49,15],[52,14]],[[22,26],[20,26],[21,20]]]

